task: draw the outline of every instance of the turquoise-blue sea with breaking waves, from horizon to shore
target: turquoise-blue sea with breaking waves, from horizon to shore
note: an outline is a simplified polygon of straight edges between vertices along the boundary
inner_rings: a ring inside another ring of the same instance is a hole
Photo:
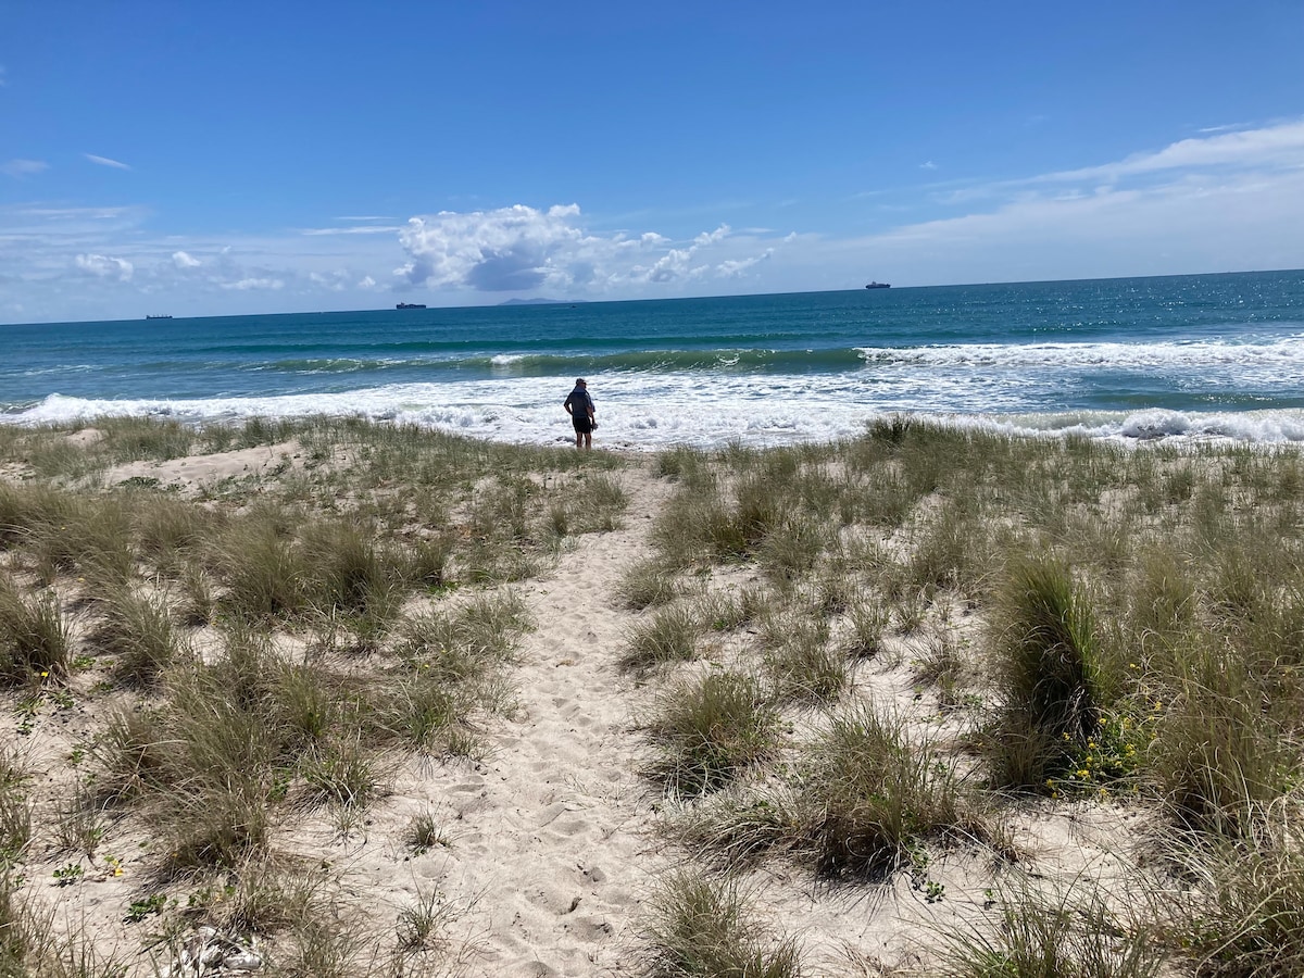
[[[0,421],[363,415],[501,441],[778,445],[905,412],[1304,441],[1304,271],[0,326]]]

